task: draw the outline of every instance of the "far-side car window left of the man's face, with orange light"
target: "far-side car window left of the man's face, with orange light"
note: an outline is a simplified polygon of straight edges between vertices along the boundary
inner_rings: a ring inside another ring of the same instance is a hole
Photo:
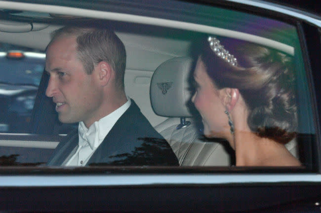
[[[6,43],[0,51],[0,132],[28,133],[45,55]]]

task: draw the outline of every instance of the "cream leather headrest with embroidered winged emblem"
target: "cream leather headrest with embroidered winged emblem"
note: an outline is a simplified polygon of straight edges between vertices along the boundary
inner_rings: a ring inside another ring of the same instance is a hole
[[[151,103],[156,114],[165,117],[191,117],[187,107],[191,99],[189,78],[193,59],[173,58],[162,63],[151,81]]]

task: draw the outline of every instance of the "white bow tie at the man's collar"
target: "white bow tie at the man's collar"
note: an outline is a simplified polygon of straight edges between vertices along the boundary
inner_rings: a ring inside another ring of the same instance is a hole
[[[99,126],[98,122],[94,122],[89,129],[81,122],[80,127],[78,128],[80,137],[84,140],[80,142],[80,146],[85,146],[89,144],[91,150],[98,147],[99,143]]]

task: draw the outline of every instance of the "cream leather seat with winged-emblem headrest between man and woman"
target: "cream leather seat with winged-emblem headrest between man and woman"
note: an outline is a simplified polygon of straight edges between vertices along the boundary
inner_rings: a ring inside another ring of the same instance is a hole
[[[221,142],[204,142],[187,106],[191,98],[190,75],[193,60],[189,57],[170,59],[154,72],[150,96],[156,114],[169,117],[155,129],[171,145],[181,166],[230,166],[231,157]],[[297,154],[297,142],[286,144]]]

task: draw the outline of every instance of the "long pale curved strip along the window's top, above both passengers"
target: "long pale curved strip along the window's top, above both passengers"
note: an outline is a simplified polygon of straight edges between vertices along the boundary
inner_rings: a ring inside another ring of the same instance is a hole
[[[173,21],[173,20],[167,20],[162,18],[152,18],[147,16],[124,14],[124,13],[81,9],[81,8],[74,8],[74,7],[67,7],[67,6],[22,3],[22,2],[12,2],[12,1],[3,1],[3,0],[0,0],[0,8],[2,9],[19,8],[19,10],[28,10],[28,11],[35,11],[35,12],[41,11],[41,12],[56,13],[56,14],[62,14],[62,15],[74,15],[74,16],[80,16],[80,17],[84,16],[83,14],[85,14],[85,17],[91,17],[91,18],[108,19],[108,20],[124,21],[124,22],[139,23],[139,24],[149,24],[154,26],[169,27],[169,28],[175,28],[175,29],[190,30],[195,32],[207,33],[210,35],[227,36],[227,37],[237,38],[245,41],[250,41],[250,42],[262,44],[265,46],[269,46],[275,49],[279,49],[290,55],[294,55],[294,48],[287,44],[283,44],[281,42],[271,40],[261,36],[254,36],[247,33],[241,33],[238,31],[232,31],[232,30],[211,27],[211,26],[201,25],[201,24]]]

